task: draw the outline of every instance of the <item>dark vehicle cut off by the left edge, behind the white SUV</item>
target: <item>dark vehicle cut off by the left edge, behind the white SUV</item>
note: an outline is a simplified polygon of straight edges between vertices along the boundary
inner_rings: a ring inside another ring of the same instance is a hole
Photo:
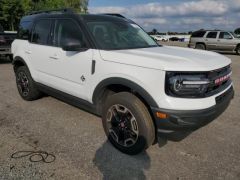
[[[0,26],[0,56],[8,57],[12,61],[11,44],[16,36],[16,32],[4,32]]]

